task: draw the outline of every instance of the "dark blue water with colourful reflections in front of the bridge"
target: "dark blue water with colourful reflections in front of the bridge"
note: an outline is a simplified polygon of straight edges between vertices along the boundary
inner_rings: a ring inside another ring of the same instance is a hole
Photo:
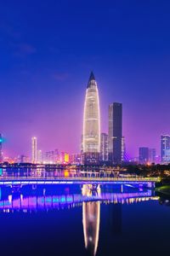
[[[167,205],[149,189],[125,185],[1,186],[1,255],[167,253]]]

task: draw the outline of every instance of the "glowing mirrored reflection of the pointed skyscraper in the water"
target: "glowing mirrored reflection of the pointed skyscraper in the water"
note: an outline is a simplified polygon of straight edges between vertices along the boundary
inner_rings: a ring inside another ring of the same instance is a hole
[[[89,186],[89,187],[88,187]],[[82,195],[92,195],[100,193],[98,187],[93,191],[91,185],[84,185]],[[99,222],[100,222],[100,202],[88,201],[82,203],[82,225],[84,233],[84,243],[90,255],[95,255],[99,243]]]

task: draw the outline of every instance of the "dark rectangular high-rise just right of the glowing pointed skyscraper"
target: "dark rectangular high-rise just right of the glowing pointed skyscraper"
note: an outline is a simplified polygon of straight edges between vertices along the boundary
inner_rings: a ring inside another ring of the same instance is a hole
[[[109,160],[113,164],[122,161],[122,103],[109,105]]]

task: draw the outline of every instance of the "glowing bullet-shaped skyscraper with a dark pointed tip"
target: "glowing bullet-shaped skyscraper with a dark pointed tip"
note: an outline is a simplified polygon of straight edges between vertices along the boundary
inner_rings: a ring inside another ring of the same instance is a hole
[[[83,154],[85,164],[97,164],[100,151],[99,92],[94,73],[90,74],[83,113]]]

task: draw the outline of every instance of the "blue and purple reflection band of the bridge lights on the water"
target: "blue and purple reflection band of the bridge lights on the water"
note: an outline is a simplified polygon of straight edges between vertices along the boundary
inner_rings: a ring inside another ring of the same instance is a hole
[[[41,211],[80,207],[82,202],[101,201],[105,204],[131,204],[157,200],[151,190],[126,190],[125,192],[91,188],[90,185],[26,185],[0,187],[0,212]],[[73,187],[73,189],[71,188]]]

